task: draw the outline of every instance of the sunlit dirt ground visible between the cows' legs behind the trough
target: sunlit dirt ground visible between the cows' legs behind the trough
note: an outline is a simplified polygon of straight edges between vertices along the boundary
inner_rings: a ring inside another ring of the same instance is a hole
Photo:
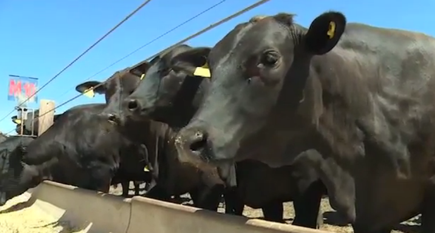
[[[133,183],[130,184],[130,192],[129,194],[134,195],[134,191],[132,190],[134,188]],[[141,184],[140,186],[141,190],[144,189],[144,184]],[[120,185],[117,186],[117,188],[111,187],[110,193],[114,195],[121,195],[122,188]],[[143,194],[144,191],[141,191],[140,194]],[[184,201],[183,205],[192,205],[192,201],[189,198],[188,194],[185,194],[182,196]],[[224,213],[224,203],[219,204],[218,212]],[[327,230],[327,231],[333,231],[337,233],[352,233],[352,227],[347,224],[339,215],[338,213],[331,208],[329,205],[328,198],[324,198],[321,201],[321,211],[323,213],[323,226],[320,227],[321,230]],[[244,207],[243,215],[251,218],[262,218],[263,212],[261,209],[252,209],[248,206]],[[294,209],[293,209],[293,203],[287,202],[284,203],[284,220],[286,220],[287,223],[291,223],[294,218]],[[398,226],[395,226],[395,230],[392,231],[392,233],[419,233],[419,226],[420,223],[418,222],[418,216],[415,216],[414,218],[402,222],[401,224],[398,224]]]

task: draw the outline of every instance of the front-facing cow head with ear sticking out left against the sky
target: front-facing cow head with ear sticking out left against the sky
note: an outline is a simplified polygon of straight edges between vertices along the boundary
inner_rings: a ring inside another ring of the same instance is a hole
[[[139,82],[145,76],[149,64],[147,62],[141,62],[134,67],[128,67],[124,70],[115,72],[109,77],[104,84],[99,81],[87,81],[77,85],[76,90],[80,93],[84,93],[92,87],[96,87],[92,90],[88,96],[93,97],[93,93],[105,94],[107,107],[103,111],[103,115],[107,115],[109,120],[117,121],[120,119],[120,106],[121,100],[128,97],[134,90],[136,90]]]

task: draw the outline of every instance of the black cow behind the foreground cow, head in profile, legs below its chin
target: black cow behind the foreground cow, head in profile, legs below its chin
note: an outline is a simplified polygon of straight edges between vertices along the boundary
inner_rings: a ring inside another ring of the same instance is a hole
[[[181,45],[151,60],[145,79],[124,100],[123,118],[127,122],[134,122],[135,119],[151,117],[175,128],[185,126],[208,90],[209,79],[194,73],[196,67],[206,63],[209,51],[210,48],[194,49]],[[119,103],[115,105],[119,106]],[[236,173],[240,185],[235,190],[238,195],[234,196],[232,192],[225,194],[226,212],[241,215],[246,203],[254,208],[262,208],[267,220],[283,221],[282,203],[297,200],[295,206],[298,214],[294,224],[316,227],[325,188],[315,170],[306,167],[310,161],[314,163],[321,156],[311,151],[300,157],[294,165],[281,168],[270,168],[254,160],[238,163]],[[234,199],[239,201],[234,202]]]

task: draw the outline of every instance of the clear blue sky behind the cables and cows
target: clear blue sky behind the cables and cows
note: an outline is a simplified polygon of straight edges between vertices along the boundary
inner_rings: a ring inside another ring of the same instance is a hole
[[[84,57],[38,93],[38,99],[59,105],[76,96],[74,87],[167,30],[211,7],[220,0],[151,0],[145,7],[90,50]],[[92,80],[103,81],[179,40],[237,12],[257,0],[227,0],[170,34],[101,72]],[[50,80],[91,44],[124,19],[143,0],[0,0],[0,119],[15,102],[7,100],[9,74],[39,78],[39,87]],[[213,46],[238,23],[255,15],[296,13],[297,23],[308,27],[327,10],[345,13],[348,22],[400,28],[435,35],[434,0],[270,0],[227,23],[188,41],[191,46]],[[62,113],[83,103],[104,102],[79,97],[60,107]],[[13,116],[15,114],[11,114]],[[10,116],[0,131],[14,128]]]

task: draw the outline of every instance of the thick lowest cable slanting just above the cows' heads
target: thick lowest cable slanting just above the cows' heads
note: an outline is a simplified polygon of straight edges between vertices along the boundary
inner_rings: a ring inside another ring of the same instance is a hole
[[[244,8],[243,10],[240,10],[240,11],[238,11],[238,12],[236,12],[236,13],[230,15],[229,17],[226,17],[226,18],[224,18],[223,20],[218,21],[217,23],[213,23],[213,24],[211,24],[210,26],[208,26],[208,27],[204,28],[203,30],[201,30],[201,31],[199,31],[199,32],[197,32],[197,33],[191,35],[190,37],[187,37],[187,38],[184,39],[184,40],[179,41],[178,43],[172,45],[171,47],[168,47],[167,49],[162,50],[160,53],[155,54],[153,57],[155,57],[155,56],[157,56],[157,55],[163,53],[164,51],[166,51],[166,50],[168,50],[168,49],[171,49],[171,48],[173,48],[173,47],[175,47],[175,46],[177,46],[177,45],[179,45],[179,44],[181,44],[181,43],[184,43],[184,42],[186,42],[187,40],[190,40],[190,39],[192,39],[192,38],[194,38],[194,37],[197,37],[198,35],[201,35],[202,33],[206,32],[206,31],[208,31],[208,30],[211,30],[211,29],[213,29],[214,27],[217,27],[218,25],[220,25],[220,24],[222,24],[222,23],[225,23],[225,22],[227,22],[228,20],[231,20],[232,18],[237,17],[237,16],[241,15],[242,13],[245,13],[245,12],[247,12],[247,11],[249,11],[249,10],[252,10],[252,9],[254,9],[255,7],[258,7],[258,6],[260,6],[261,4],[264,4],[264,3],[268,2],[268,1],[270,1],[270,0],[261,0],[261,1],[258,1],[257,3],[254,3],[254,4],[252,4],[251,6],[246,7],[246,8]],[[150,59],[153,58],[153,57],[149,57],[149,58],[147,58],[147,60],[150,60]],[[58,105],[57,107],[54,107],[53,109],[51,109],[51,110],[49,110],[49,111],[47,111],[47,112],[41,114],[41,115],[38,116],[36,119],[33,119],[33,121],[35,122],[35,121],[39,120],[39,118],[42,117],[42,116],[44,116],[45,114],[50,113],[50,112],[56,110],[57,108],[64,106],[65,104],[71,102],[72,100],[77,99],[78,97],[82,96],[83,94],[87,93],[88,91],[94,90],[94,89],[96,89],[97,87],[100,87],[100,86],[104,85],[104,83],[106,83],[106,82],[107,82],[107,80],[105,80],[104,82],[101,82],[101,83],[95,85],[94,87],[91,87],[90,89],[84,91],[83,93],[79,93],[77,96],[71,98],[70,100],[67,100],[67,101],[65,101],[64,103],[61,103],[60,105]],[[10,131],[10,132],[12,132],[12,131]]]

